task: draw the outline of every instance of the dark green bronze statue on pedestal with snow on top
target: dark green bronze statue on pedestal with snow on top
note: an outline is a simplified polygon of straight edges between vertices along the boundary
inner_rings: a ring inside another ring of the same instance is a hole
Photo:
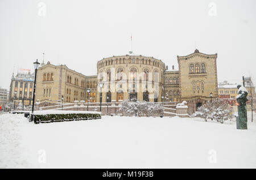
[[[247,130],[247,110],[246,110],[246,101],[248,91],[242,85],[237,85],[238,95],[238,119],[237,119],[237,128]]]

